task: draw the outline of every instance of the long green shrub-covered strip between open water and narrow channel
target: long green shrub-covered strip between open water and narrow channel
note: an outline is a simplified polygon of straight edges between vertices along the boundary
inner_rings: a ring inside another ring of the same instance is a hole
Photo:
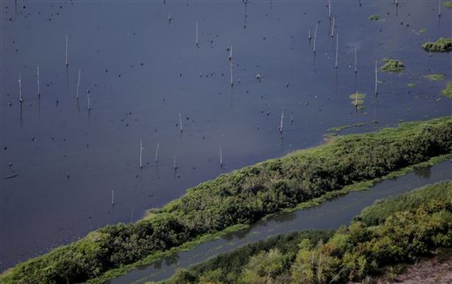
[[[231,226],[256,223],[268,214],[293,208],[345,185],[380,178],[432,157],[450,154],[451,149],[451,117],[337,137],[328,144],[201,183],[162,209],[151,209],[137,223],[100,228],[78,242],[18,264],[0,280],[79,283],[102,279],[111,269],[130,268],[130,264],[149,255]]]

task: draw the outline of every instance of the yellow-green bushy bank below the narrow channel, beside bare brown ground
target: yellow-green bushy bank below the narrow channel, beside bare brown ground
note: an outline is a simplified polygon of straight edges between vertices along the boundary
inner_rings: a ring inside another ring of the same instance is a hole
[[[350,226],[279,235],[182,269],[165,283],[395,280],[404,266],[452,254],[452,181],[376,202]]]

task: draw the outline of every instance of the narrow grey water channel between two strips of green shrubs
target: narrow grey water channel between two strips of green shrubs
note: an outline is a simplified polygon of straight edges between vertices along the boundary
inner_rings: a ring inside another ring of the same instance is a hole
[[[109,281],[110,284],[145,283],[159,281],[172,276],[178,268],[206,261],[212,257],[242,247],[251,242],[258,242],[267,237],[291,233],[297,230],[336,229],[350,223],[354,216],[374,203],[383,199],[408,192],[416,187],[436,183],[451,178],[451,162],[446,161],[432,168],[409,173],[396,180],[385,180],[364,192],[350,192],[348,195],[333,199],[321,206],[297,211],[293,214],[283,214],[271,218],[266,223],[258,223],[248,230],[232,233],[213,242],[206,242],[189,252],[180,252],[162,261],[156,261]]]

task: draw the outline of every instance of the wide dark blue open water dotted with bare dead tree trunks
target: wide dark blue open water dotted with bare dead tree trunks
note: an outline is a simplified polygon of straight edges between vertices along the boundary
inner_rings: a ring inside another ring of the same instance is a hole
[[[222,172],[320,144],[328,128],[451,114],[448,99],[437,101],[450,54],[420,47],[451,37],[451,10],[439,18],[436,1],[332,1],[335,69],[327,3],[1,1],[0,271],[135,221]],[[385,57],[406,70],[379,73],[375,97],[374,60]],[[354,92],[367,93],[364,111]]]

